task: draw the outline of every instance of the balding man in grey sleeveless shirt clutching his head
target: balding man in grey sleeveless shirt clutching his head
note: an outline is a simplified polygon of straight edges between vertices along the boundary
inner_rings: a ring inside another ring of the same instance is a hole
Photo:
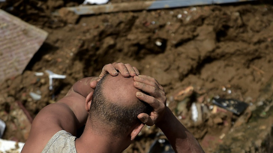
[[[154,78],[139,75],[129,64],[113,63],[105,65],[99,77],[76,82],[64,98],[43,108],[22,153],[122,152],[145,124],[157,125],[176,152],[203,152],[166,107],[164,88]]]

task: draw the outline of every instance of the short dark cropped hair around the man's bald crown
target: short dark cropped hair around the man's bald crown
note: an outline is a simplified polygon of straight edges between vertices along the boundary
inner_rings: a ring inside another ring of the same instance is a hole
[[[102,90],[108,75],[109,74],[103,76],[95,88],[90,105],[89,117],[91,126],[93,125],[93,121],[100,121],[101,123],[115,127],[112,130],[112,134],[119,136],[128,131],[134,124],[140,122],[137,115],[140,113],[151,113],[152,107],[139,99],[137,99],[132,106],[121,106],[109,101],[105,98]],[[94,128],[96,128],[95,125]]]

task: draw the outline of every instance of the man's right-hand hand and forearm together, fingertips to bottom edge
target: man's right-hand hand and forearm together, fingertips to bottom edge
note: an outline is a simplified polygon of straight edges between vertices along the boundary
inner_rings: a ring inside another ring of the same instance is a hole
[[[153,107],[150,115],[141,113],[137,118],[148,126],[157,125],[166,135],[175,152],[204,153],[195,137],[166,106],[164,88],[154,78],[146,75],[134,76],[134,81],[135,88],[144,92],[136,92],[136,97]]]

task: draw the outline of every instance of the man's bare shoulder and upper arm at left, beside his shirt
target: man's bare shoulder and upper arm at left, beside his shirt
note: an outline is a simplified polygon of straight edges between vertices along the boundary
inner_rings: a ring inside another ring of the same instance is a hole
[[[22,153],[42,152],[51,137],[60,130],[66,130],[74,134],[76,128],[74,126],[71,127],[71,125],[75,125],[75,123],[68,121],[73,115],[71,109],[62,103],[50,104],[43,108],[33,120],[30,134]],[[68,123],[68,126],[65,123]]]

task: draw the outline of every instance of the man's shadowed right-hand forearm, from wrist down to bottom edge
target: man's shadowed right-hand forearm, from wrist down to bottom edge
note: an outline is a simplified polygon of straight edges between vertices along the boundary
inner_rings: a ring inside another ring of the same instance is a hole
[[[195,137],[184,127],[167,107],[166,113],[157,124],[170,141],[176,152],[200,153],[204,152]]]

